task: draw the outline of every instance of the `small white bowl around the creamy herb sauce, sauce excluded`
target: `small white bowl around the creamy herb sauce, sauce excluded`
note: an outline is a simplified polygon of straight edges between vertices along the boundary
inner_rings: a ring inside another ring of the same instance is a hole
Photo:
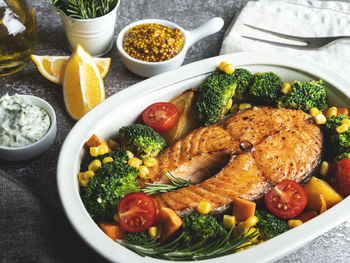
[[[39,108],[46,111],[50,117],[50,128],[38,141],[22,147],[0,146],[0,159],[6,161],[23,161],[31,159],[45,151],[53,143],[56,137],[56,114],[51,105],[43,99],[31,95],[20,95]]]

